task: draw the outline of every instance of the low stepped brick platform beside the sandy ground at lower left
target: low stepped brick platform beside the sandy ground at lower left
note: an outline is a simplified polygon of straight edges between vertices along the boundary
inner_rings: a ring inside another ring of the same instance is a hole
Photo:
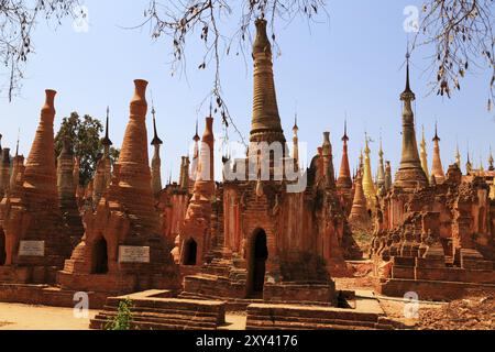
[[[132,301],[132,329],[139,330],[216,330],[226,323],[226,302],[164,298],[167,290],[147,290],[129,296],[109,297],[91,329],[105,329],[118,314],[120,301]]]

